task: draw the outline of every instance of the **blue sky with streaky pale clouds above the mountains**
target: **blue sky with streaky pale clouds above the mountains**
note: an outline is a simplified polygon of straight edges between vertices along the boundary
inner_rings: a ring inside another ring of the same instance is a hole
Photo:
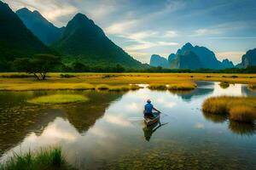
[[[167,57],[185,42],[206,46],[235,64],[256,48],[255,0],[3,0],[13,10],[38,10],[55,26],[74,14],[94,20],[136,59]]]

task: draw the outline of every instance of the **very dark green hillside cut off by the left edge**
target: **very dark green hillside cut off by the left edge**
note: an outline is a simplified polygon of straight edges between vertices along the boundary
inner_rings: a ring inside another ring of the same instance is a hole
[[[9,67],[9,61],[33,54],[49,54],[52,51],[40,42],[22,23],[19,17],[0,1],[0,70]]]

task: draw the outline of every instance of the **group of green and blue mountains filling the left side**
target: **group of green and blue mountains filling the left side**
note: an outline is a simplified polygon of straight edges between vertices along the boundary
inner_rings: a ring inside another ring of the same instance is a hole
[[[58,28],[38,11],[20,8],[14,13],[0,1],[0,71],[8,71],[9,62],[34,54],[58,54],[65,62],[86,65],[123,65],[145,68],[125,53],[84,14],[76,14],[67,27]]]

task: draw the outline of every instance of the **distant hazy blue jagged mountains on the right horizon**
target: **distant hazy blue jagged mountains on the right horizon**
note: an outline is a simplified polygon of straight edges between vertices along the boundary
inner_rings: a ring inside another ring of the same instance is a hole
[[[242,56],[241,64],[234,65],[229,59],[224,59],[222,62],[219,61],[210,49],[199,46],[194,47],[188,42],[183,45],[182,48],[179,48],[176,54],[170,54],[168,59],[161,57],[160,55],[152,55],[150,65],[162,66],[163,68],[170,69],[246,68],[247,66],[256,65],[256,48],[247,51],[247,54]]]

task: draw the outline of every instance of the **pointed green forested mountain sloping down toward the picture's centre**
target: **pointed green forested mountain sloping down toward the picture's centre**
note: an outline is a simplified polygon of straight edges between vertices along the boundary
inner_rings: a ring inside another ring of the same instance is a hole
[[[122,48],[115,45],[102,29],[84,14],[76,14],[69,21],[62,37],[52,46],[67,60],[79,60],[90,65],[124,65],[141,68],[143,65]]]

